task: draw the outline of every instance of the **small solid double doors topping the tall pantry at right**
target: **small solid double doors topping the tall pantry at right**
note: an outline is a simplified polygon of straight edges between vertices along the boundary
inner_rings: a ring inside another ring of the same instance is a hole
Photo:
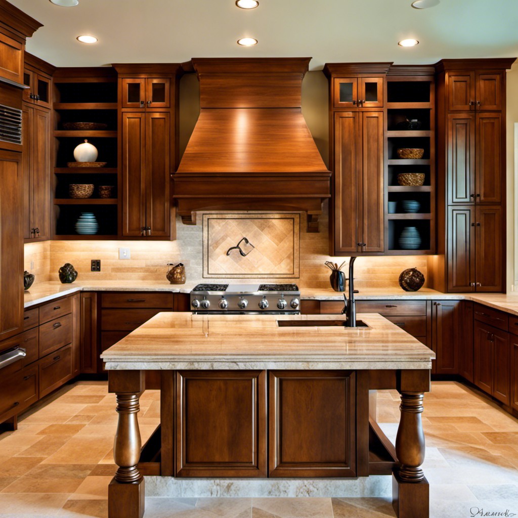
[[[502,71],[449,70],[447,72],[449,111],[500,111]]]

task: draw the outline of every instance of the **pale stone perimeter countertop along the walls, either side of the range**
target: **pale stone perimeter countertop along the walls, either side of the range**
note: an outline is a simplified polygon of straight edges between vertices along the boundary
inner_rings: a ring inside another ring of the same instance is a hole
[[[195,283],[169,284],[157,281],[96,281],[62,284],[59,281],[39,282],[24,294],[24,307],[30,308],[55,298],[80,291],[163,291],[189,293]],[[302,300],[343,300],[343,293],[328,289],[300,289]],[[347,294],[347,292],[346,292]],[[484,306],[518,316],[518,293],[441,293],[429,288],[406,292],[399,287],[364,288],[356,294],[356,300],[472,300]]]

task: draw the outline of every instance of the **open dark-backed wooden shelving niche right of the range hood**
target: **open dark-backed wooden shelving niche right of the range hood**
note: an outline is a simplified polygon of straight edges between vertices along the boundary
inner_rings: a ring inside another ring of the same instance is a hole
[[[386,252],[391,255],[433,254],[435,238],[435,83],[433,71],[424,67],[391,67],[387,76],[387,117],[385,160]],[[391,75],[394,74],[393,76]],[[408,75],[404,75],[408,74]],[[398,128],[398,123],[417,119],[419,130]],[[398,148],[423,148],[422,159],[399,159]],[[399,185],[402,172],[423,172],[423,185]],[[404,212],[401,202],[416,200],[418,212]],[[389,213],[387,202],[396,202]],[[421,237],[418,249],[403,249],[398,240],[405,227],[415,227]]]

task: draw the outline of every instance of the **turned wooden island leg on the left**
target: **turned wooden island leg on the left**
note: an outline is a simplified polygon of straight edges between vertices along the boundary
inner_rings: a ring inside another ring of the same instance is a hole
[[[137,413],[139,396],[144,389],[141,371],[108,373],[108,392],[117,394],[119,414],[113,443],[113,459],[119,468],[108,487],[108,518],[142,518],[144,515],[144,478],[137,469],[141,448]]]

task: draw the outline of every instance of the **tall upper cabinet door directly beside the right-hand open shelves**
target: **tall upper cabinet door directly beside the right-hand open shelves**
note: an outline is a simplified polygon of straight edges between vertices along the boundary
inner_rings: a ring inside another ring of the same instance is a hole
[[[383,252],[383,112],[362,112],[362,252]],[[359,205],[358,201],[358,205]]]

